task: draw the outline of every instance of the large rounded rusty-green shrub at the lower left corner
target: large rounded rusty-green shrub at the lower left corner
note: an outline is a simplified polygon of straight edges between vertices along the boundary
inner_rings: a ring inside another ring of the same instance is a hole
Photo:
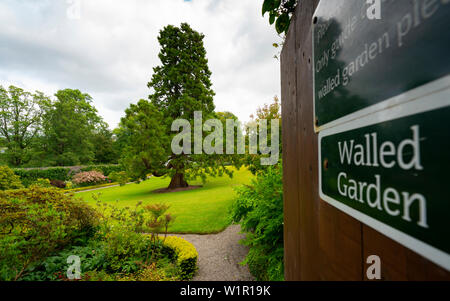
[[[0,191],[0,280],[20,279],[56,249],[82,243],[97,220],[94,209],[54,188]]]

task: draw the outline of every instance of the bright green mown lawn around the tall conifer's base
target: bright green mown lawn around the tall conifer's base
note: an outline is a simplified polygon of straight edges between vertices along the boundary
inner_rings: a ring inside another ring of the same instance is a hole
[[[235,170],[233,178],[228,176],[207,179],[202,188],[189,191],[155,193],[167,188],[170,179],[150,178],[141,184],[105,188],[97,191],[76,193],[89,204],[96,206],[93,194],[101,193],[100,199],[118,207],[133,207],[139,201],[143,205],[164,203],[170,205],[168,213],[176,217],[169,228],[171,233],[218,233],[228,227],[228,209],[236,197],[234,188],[249,184],[252,174],[245,168]],[[190,185],[202,185],[201,181]],[[116,202],[117,201],[117,202]]]

